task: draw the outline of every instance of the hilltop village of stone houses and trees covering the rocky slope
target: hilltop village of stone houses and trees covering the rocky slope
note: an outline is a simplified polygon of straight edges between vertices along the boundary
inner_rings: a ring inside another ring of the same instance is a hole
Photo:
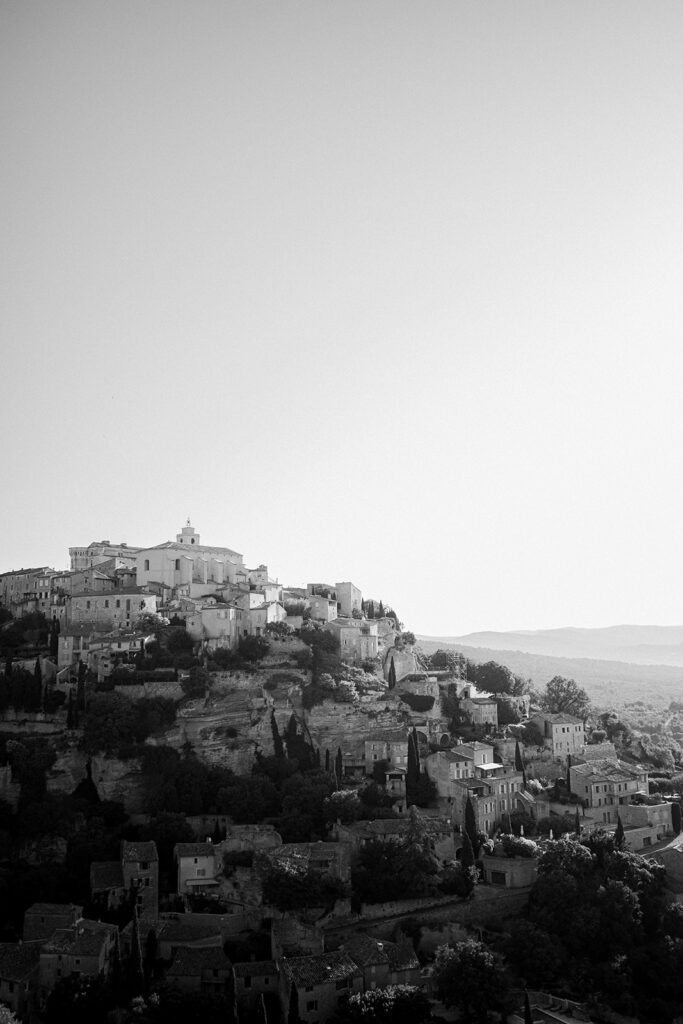
[[[189,522],[69,553],[0,574],[0,1021],[680,1013],[677,766],[572,680]]]

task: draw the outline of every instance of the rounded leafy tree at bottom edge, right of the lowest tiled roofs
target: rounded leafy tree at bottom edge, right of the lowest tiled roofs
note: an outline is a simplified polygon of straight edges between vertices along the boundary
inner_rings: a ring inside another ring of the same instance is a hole
[[[475,939],[437,948],[434,981],[445,1006],[457,1007],[466,1020],[485,1024],[488,1011],[511,1010],[511,981],[502,958]]]

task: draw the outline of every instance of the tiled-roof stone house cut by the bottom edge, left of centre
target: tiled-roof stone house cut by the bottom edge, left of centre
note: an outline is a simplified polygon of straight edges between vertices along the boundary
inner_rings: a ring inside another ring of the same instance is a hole
[[[314,956],[285,956],[279,968],[284,1020],[288,1019],[293,992],[299,1019],[313,1024],[332,1017],[346,996],[362,991],[362,972],[342,950]]]

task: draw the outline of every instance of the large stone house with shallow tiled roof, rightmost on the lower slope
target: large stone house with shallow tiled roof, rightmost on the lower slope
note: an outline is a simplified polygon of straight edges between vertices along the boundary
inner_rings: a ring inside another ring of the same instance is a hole
[[[618,759],[587,761],[569,767],[569,783],[584,806],[594,813],[594,820],[615,824],[621,808],[631,803],[635,794],[647,796],[647,771]]]

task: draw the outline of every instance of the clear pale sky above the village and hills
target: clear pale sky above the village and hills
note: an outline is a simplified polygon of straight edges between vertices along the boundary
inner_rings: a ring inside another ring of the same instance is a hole
[[[683,7],[0,5],[0,571],[683,622]]]

